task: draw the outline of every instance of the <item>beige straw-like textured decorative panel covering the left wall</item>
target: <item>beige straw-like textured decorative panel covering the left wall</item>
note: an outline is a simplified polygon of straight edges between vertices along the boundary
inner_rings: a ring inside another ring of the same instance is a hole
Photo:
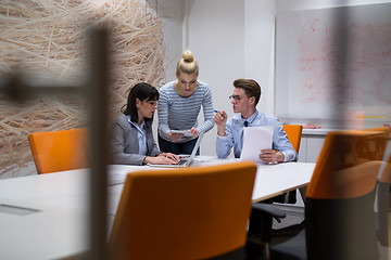
[[[163,80],[163,24],[155,10],[146,0],[1,1],[0,80],[17,67],[25,80],[85,84],[88,28],[106,26],[115,116],[131,86]],[[83,96],[41,96],[25,104],[0,96],[0,177],[18,176],[26,167],[35,172],[28,133],[85,127],[85,117]]]

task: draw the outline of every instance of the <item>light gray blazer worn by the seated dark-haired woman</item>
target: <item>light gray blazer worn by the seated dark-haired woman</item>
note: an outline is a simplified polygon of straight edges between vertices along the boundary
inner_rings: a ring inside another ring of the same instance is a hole
[[[154,157],[162,153],[154,141],[152,133],[152,121],[146,127],[148,156]],[[113,122],[110,138],[110,152],[114,165],[142,165],[146,155],[139,155],[137,129],[121,114]]]

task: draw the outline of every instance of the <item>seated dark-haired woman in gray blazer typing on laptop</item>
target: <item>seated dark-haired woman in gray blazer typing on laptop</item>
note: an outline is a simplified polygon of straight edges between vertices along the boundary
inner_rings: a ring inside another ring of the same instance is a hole
[[[146,82],[131,88],[125,110],[114,120],[111,131],[112,162],[115,165],[174,165],[177,155],[162,153],[152,133],[159,91]]]

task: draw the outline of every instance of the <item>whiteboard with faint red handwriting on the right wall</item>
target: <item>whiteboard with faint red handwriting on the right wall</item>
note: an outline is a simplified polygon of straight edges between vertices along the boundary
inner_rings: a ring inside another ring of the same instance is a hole
[[[275,104],[282,118],[389,119],[391,3],[278,13]]]

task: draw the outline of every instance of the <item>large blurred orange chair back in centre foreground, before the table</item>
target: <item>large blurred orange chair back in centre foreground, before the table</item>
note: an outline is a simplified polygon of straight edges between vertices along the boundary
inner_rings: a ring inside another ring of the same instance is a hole
[[[244,259],[256,165],[127,176],[109,259]]]

